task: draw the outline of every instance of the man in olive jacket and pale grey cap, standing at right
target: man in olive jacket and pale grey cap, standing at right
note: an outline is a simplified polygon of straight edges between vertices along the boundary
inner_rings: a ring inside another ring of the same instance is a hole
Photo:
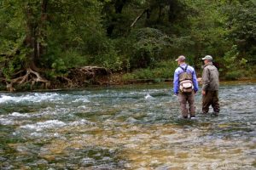
[[[218,69],[212,65],[212,56],[207,55],[202,58],[204,61],[202,73],[202,112],[207,114],[209,106],[212,105],[212,116],[218,116]]]

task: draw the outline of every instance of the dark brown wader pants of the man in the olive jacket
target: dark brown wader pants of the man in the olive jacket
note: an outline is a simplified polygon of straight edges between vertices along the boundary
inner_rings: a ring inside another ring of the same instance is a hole
[[[208,113],[210,105],[212,105],[214,112],[217,112],[217,113],[219,112],[218,90],[207,91],[207,94],[202,96],[202,112],[203,113]]]

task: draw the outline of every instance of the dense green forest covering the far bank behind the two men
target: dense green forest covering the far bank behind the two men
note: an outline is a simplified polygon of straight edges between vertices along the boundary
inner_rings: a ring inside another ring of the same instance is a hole
[[[199,74],[210,54],[222,78],[255,77],[254,0],[2,0],[0,30],[2,89],[71,85],[93,68],[161,81],[180,54]]]

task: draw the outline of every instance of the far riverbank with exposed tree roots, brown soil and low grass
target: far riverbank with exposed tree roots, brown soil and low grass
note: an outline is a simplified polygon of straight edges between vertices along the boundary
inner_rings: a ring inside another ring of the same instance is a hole
[[[56,89],[77,89],[88,87],[109,87],[130,84],[172,83],[177,68],[174,60],[155,63],[151,67],[113,71],[96,65],[69,68],[63,73],[21,71],[11,78],[0,77],[0,91],[40,91]],[[256,67],[233,70],[219,69],[221,81],[253,81]],[[197,77],[201,77],[200,65],[195,65]],[[3,76],[3,75],[2,75]],[[40,77],[38,79],[38,77]]]

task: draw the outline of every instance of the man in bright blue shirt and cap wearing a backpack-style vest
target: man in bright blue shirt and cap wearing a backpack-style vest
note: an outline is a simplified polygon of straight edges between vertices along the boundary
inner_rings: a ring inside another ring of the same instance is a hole
[[[183,118],[195,118],[195,94],[198,91],[198,83],[195,70],[192,66],[185,63],[185,57],[180,55],[176,61],[179,67],[174,72],[173,91],[178,95],[180,109]],[[189,103],[189,111],[187,109]],[[188,113],[189,112],[189,113]]]

